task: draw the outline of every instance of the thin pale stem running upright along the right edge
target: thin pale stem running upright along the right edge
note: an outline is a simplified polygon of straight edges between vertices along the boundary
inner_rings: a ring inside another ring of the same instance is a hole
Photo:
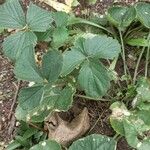
[[[146,63],[145,63],[145,77],[147,77],[148,75],[148,64],[149,64],[149,55],[150,55],[150,44],[149,44],[149,40],[150,40],[150,31],[147,37],[147,41],[148,41],[148,48],[147,48],[147,54],[146,54]]]

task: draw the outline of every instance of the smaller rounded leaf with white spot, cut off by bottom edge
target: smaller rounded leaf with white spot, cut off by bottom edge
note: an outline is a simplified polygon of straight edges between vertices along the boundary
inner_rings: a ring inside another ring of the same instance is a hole
[[[29,150],[62,150],[61,146],[52,140],[45,140],[31,147]]]

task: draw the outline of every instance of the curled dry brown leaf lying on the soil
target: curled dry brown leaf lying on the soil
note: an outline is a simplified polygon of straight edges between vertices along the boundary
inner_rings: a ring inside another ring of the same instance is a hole
[[[70,123],[62,120],[58,113],[55,113],[45,122],[45,129],[49,132],[48,138],[56,140],[63,146],[69,145],[84,135],[89,128],[90,119],[87,108],[84,108]]]

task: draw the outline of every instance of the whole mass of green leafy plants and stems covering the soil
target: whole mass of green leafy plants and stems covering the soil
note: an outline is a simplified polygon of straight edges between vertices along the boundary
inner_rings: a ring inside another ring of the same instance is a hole
[[[4,39],[3,53],[14,62],[15,77],[33,83],[22,88],[18,95],[15,116],[21,121],[21,126],[7,149],[60,150],[60,144],[48,140],[47,134],[38,130],[47,116],[69,110],[74,96],[100,101],[111,92],[110,123],[116,136],[89,135],[75,141],[68,149],[115,150],[117,140],[124,136],[131,147],[148,150],[149,10],[150,4],[144,2],[130,7],[111,7],[103,27],[75,17],[70,11],[50,12],[32,2],[26,11],[19,0],[1,5],[0,28],[12,30]],[[100,32],[94,34],[90,30],[91,33],[87,33],[79,24],[98,28]],[[37,62],[35,48],[39,42],[46,42],[48,47],[43,51],[41,61]],[[128,45],[136,46],[140,51],[133,75],[126,60]],[[137,80],[146,49],[144,76]],[[118,62],[121,63],[120,55],[124,73],[118,77],[115,68]],[[113,85],[118,87],[115,92],[110,90]],[[79,91],[83,95],[79,95]],[[33,124],[37,124],[38,128],[34,128],[35,125],[31,128]]]

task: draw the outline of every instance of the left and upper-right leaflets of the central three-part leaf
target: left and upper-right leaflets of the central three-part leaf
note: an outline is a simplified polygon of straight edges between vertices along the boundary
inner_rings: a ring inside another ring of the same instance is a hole
[[[62,75],[67,75],[87,58],[113,59],[120,52],[120,45],[117,40],[107,36],[90,35],[88,38],[79,38],[71,51],[63,54]]]

